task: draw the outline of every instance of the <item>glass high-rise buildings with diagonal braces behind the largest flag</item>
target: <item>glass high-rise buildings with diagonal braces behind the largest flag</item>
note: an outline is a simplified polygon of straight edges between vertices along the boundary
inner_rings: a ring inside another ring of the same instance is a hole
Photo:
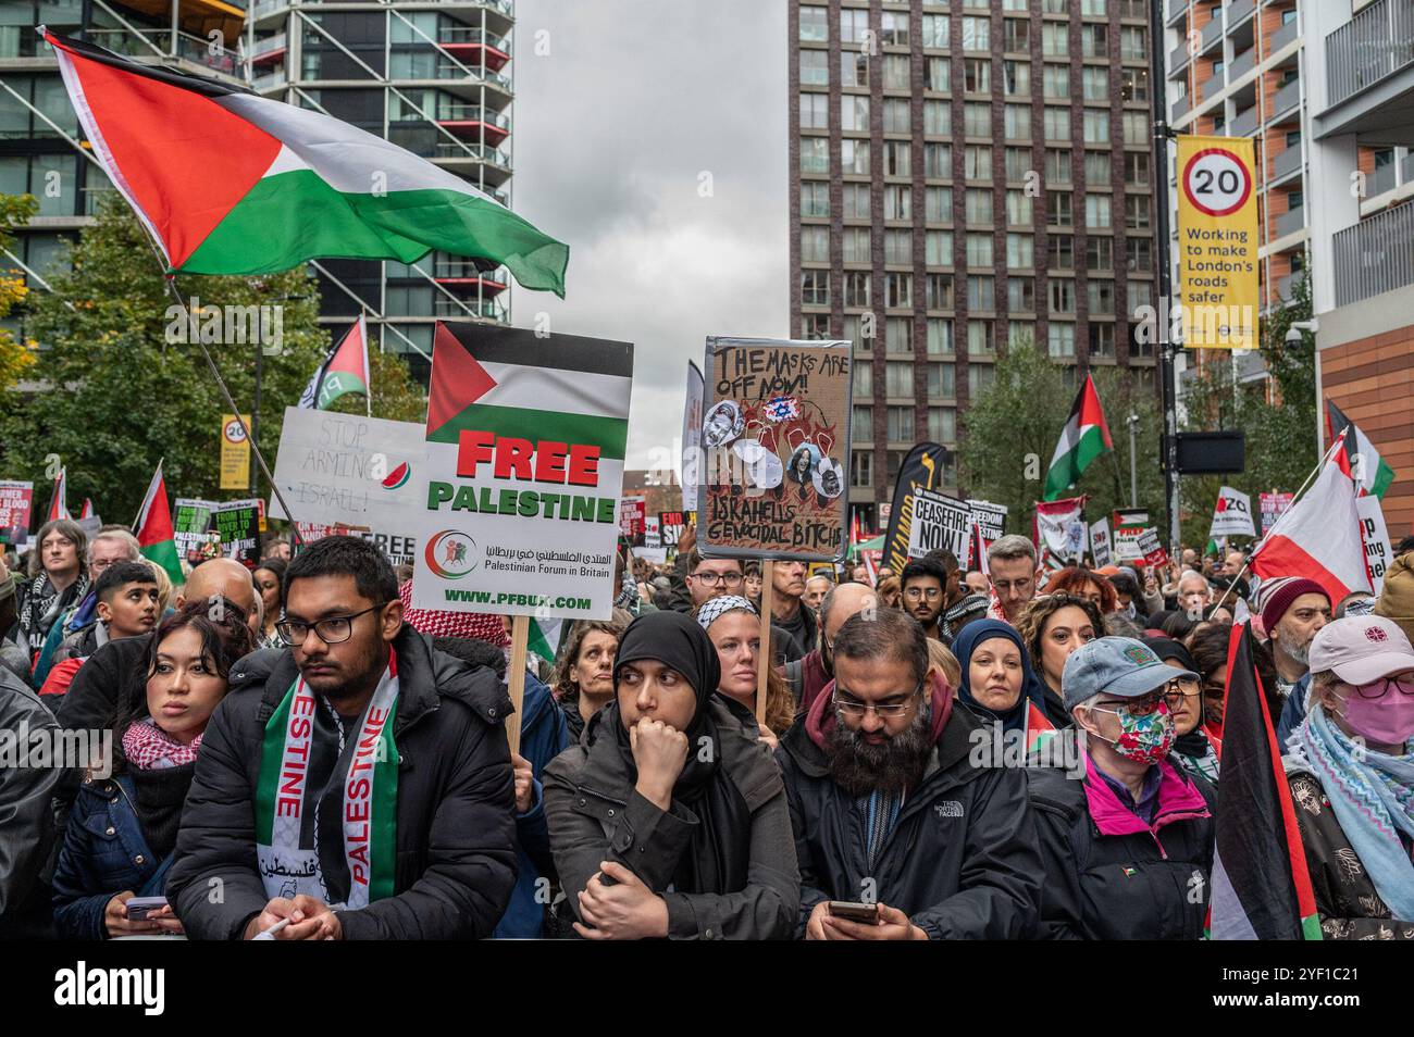
[[[510,202],[512,0],[11,0],[0,4],[0,76],[25,102],[0,96],[0,192],[40,199],[20,243],[20,260],[37,274],[112,189],[62,136],[76,138],[79,127],[34,32],[44,23],[325,112]],[[366,308],[383,346],[404,353],[424,380],[437,318],[509,319],[509,275],[489,261],[440,253],[413,266],[320,260],[317,274],[321,321],[337,331]]]

